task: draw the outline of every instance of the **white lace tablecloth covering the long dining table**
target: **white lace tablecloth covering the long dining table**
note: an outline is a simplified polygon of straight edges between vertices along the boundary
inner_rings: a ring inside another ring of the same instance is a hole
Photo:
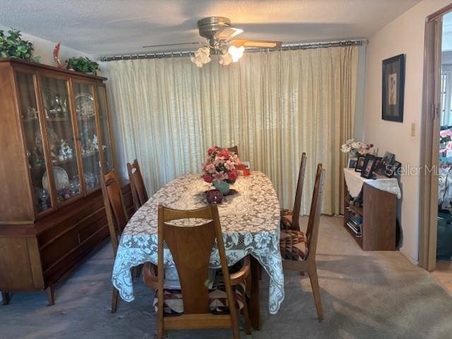
[[[131,268],[141,263],[157,264],[157,206],[189,210],[206,206],[205,191],[213,187],[198,174],[172,180],[150,198],[129,220],[119,241],[112,283],[127,302],[134,299]],[[239,177],[231,186],[237,194],[226,196],[218,205],[228,265],[251,254],[270,276],[268,309],[275,314],[284,299],[281,261],[280,206],[270,179],[261,172]],[[174,267],[165,249],[165,266]],[[210,268],[220,268],[218,249],[210,256]]]

